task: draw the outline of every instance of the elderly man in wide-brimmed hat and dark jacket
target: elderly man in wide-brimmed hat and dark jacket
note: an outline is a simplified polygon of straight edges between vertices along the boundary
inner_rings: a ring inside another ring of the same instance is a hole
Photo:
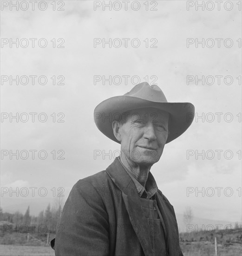
[[[150,168],[164,145],[190,126],[192,114],[191,103],[169,103],[158,86],[145,82],[95,108],[98,129],[121,144],[120,155],[72,188],[56,255],[183,255],[174,209]]]

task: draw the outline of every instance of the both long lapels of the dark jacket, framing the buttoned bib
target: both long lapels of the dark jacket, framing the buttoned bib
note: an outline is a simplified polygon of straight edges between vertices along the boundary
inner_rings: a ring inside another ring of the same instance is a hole
[[[133,180],[117,158],[111,163],[106,171],[118,189],[122,191],[124,204],[129,214],[131,224],[133,229],[136,231],[145,256],[154,255],[149,232],[147,232],[147,220],[144,216],[141,200]],[[158,190],[156,195],[157,206],[161,211],[167,230],[167,246],[169,255],[179,256],[179,236],[173,206],[170,202],[164,200],[161,191]]]

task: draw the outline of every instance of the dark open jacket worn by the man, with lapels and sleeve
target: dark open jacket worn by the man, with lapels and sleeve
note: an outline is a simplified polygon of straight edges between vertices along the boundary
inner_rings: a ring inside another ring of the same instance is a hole
[[[173,206],[160,190],[156,199],[169,256],[182,256]],[[60,225],[54,246],[57,256],[154,255],[140,197],[118,159],[73,186]]]

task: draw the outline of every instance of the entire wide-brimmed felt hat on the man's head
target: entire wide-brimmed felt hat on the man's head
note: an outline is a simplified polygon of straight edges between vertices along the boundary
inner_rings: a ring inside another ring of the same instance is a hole
[[[161,88],[146,82],[137,84],[130,92],[102,101],[94,110],[98,129],[113,141],[118,141],[112,129],[113,121],[120,121],[123,113],[137,108],[157,108],[170,114],[169,135],[166,143],[182,135],[191,125],[195,108],[190,102],[167,102]]]

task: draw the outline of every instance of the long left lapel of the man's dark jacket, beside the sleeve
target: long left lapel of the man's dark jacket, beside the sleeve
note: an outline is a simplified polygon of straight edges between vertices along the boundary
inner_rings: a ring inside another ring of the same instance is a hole
[[[116,158],[106,169],[111,180],[122,191],[125,207],[129,214],[130,222],[136,232],[138,240],[144,250],[145,256],[153,255],[147,220],[144,216],[140,197],[131,177]]]

